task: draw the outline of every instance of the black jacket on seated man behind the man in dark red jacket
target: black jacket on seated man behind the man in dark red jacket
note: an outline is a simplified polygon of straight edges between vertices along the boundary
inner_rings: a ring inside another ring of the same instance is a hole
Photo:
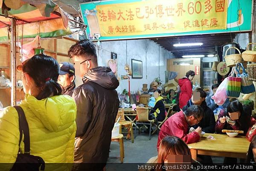
[[[185,111],[187,108],[189,108],[189,106],[192,106],[192,105],[194,104],[190,99],[187,105],[183,107],[183,111]],[[204,109],[204,117],[198,125],[195,125],[193,127],[197,128],[198,126],[200,126],[202,128],[202,131],[204,131],[205,133],[214,133],[215,117],[214,117],[213,111],[209,107],[207,107],[207,104],[205,101],[203,101],[200,106]]]

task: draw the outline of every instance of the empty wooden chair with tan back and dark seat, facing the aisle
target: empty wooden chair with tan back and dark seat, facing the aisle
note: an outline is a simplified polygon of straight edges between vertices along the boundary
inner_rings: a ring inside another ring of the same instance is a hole
[[[137,107],[136,108],[138,119],[136,120],[135,133],[134,134],[136,135],[137,125],[150,125],[150,128],[149,128],[149,140],[150,140],[151,127],[152,127],[152,124],[155,122],[155,120],[154,119],[152,119],[152,120],[148,119],[149,110],[150,109],[147,108],[147,107]],[[149,123],[145,123],[145,122],[149,122]],[[139,133],[140,133],[140,128],[139,128]]]

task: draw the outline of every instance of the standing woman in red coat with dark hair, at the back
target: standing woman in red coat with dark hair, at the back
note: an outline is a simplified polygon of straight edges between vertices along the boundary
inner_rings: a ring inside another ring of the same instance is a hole
[[[186,76],[179,79],[179,86],[180,86],[180,96],[179,96],[179,106],[180,109],[182,109],[189,99],[191,99],[192,96],[192,84],[191,81],[195,77],[194,71],[188,71],[186,72]]]

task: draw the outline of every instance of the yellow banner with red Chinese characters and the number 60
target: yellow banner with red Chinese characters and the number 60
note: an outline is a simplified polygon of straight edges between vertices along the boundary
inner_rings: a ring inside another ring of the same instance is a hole
[[[227,0],[147,0],[96,6],[102,36],[227,29]]]

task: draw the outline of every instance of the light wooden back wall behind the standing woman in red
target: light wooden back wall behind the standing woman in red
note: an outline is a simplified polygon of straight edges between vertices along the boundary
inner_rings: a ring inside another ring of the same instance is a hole
[[[182,65],[174,65],[173,62],[174,61],[187,61],[190,60],[190,58],[186,58],[186,59],[167,59],[167,70],[168,71],[174,71],[177,72],[178,75],[176,77],[176,79],[180,79],[183,78],[186,75],[186,72],[188,72],[189,70],[195,71],[195,66],[199,66],[200,68],[200,72],[199,75],[195,75],[195,78],[192,80],[193,84],[195,85],[195,81],[198,81],[198,84],[200,85],[200,76],[201,76],[201,58],[192,58],[193,60],[193,64],[188,65],[188,66],[182,66]]]

